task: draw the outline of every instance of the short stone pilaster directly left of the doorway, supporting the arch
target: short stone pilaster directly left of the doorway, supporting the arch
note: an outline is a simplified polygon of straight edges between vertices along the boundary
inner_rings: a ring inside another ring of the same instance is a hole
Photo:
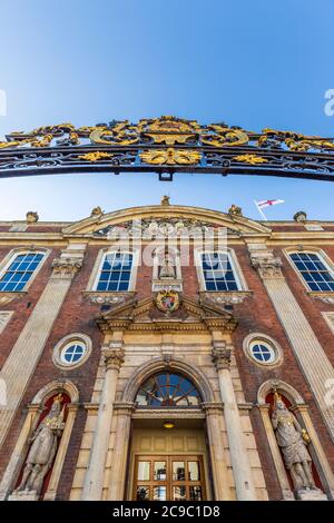
[[[117,405],[117,426],[111,460],[111,481],[108,493],[108,500],[111,501],[125,500],[132,409],[132,403]]]

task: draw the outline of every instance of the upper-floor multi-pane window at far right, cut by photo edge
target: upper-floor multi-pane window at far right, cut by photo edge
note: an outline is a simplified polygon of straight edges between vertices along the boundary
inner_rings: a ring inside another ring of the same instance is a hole
[[[334,292],[334,272],[317,253],[292,253],[289,258],[310,290]]]

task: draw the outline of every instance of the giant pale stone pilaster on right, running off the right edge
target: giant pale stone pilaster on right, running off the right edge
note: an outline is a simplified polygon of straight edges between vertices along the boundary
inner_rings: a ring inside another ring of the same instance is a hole
[[[334,405],[326,402],[334,368],[282,274],[282,259],[265,245],[250,244],[248,249],[334,441]]]

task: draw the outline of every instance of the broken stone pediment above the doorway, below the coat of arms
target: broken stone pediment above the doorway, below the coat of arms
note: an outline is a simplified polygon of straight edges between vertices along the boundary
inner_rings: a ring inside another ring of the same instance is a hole
[[[233,314],[223,307],[200,304],[183,294],[179,295],[179,299],[178,309],[168,314],[159,310],[155,297],[140,302],[131,297],[127,303],[104,314],[97,323],[102,330],[115,327],[125,329],[190,328],[196,325],[204,328],[217,327],[233,330],[237,325]]]

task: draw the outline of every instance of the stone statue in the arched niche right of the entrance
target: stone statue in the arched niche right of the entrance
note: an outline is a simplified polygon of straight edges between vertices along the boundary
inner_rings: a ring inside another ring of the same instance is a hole
[[[312,458],[307,451],[310,436],[305,428],[301,427],[294,414],[286,408],[277,392],[274,393],[274,398],[272,424],[295,491],[297,494],[304,490],[318,491],[314,483]]]

